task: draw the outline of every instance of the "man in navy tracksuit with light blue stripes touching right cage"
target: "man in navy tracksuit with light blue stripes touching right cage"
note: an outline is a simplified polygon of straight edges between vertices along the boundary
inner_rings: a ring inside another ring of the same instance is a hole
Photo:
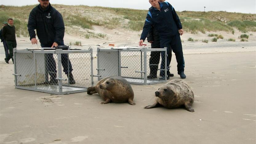
[[[150,7],[147,14],[139,45],[142,46],[151,26],[153,25],[154,28],[158,30],[161,48],[167,47],[167,54],[169,54],[170,47],[172,48],[178,63],[178,74],[181,78],[186,78],[186,75],[184,74],[185,62],[183,58],[182,44],[180,39],[180,35],[182,35],[184,31],[182,29],[179,17],[175,12],[174,8],[170,5],[170,3],[158,2],[158,0],[149,0],[149,2],[152,7]],[[161,53],[161,56],[161,69],[164,69],[164,53]],[[168,55],[166,61],[168,71],[170,70]],[[164,79],[164,75],[165,72],[161,70],[160,76],[162,76],[162,78],[160,79]],[[167,76],[167,79],[169,79],[169,76]]]

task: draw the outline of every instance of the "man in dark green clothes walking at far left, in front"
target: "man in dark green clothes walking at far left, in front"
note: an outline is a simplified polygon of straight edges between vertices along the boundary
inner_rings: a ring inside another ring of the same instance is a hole
[[[15,26],[13,25],[13,19],[8,19],[8,25],[3,27],[2,37],[6,40],[9,55],[5,58],[5,62],[9,63],[9,60],[12,59],[13,62],[13,48],[17,47],[16,36],[15,36]],[[14,63],[14,62],[13,62]]]

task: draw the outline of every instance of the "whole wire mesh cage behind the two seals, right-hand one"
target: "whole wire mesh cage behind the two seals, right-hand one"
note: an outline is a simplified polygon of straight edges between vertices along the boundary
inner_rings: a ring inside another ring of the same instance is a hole
[[[158,56],[152,56],[152,53]],[[97,56],[98,80],[116,75],[125,78],[130,84],[150,85],[166,81],[166,48],[98,48]],[[159,76],[160,70],[164,79]],[[149,77],[151,73],[154,73],[154,77]]]

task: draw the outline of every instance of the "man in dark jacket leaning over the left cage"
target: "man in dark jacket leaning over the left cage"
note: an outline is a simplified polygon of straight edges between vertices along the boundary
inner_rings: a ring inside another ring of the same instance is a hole
[[[38,0],[40,3],[36,6],[29,15],[28,31],[32,44],[37,44],[35,29],[41,47],[56,47],[64,45],[65,26],[62,15],[51,6],[49,0]],[[67,54],[61,54],[63,71],[70,77],[70,84],[75,84],[72,72],[72,65],[67,57]],[[50,83],[58,83],[56,78],[56,62],[53,54],[46,54],[47,71],[50,75]],[[69,68],[68,68],[69,63]]]

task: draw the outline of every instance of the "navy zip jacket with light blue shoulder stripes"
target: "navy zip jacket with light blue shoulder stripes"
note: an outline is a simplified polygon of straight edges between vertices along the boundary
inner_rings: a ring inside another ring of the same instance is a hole
[[[146,39],[152,25],[156,28],[161,38],[170,38],[171,36],[178,34],[178,30],[182,29],[180,19],[170,3],[158,3],[160,5],[160,10],[151,6],[148,11],[140,38],[143,41]]]

